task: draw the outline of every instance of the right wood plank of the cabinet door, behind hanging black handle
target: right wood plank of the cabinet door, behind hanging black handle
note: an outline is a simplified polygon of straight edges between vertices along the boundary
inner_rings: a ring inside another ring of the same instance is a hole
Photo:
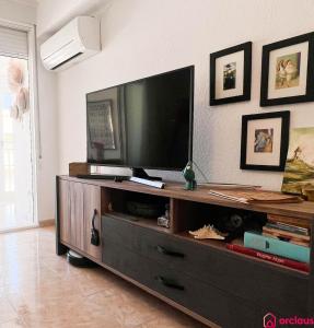
[[[84,251],[95,259],[102,259],[102,246],[91,244],[92,220],[95,214],[94,225],[100,233],[102,243],[101,227],[101,187],[93,185],[84,185]]]

